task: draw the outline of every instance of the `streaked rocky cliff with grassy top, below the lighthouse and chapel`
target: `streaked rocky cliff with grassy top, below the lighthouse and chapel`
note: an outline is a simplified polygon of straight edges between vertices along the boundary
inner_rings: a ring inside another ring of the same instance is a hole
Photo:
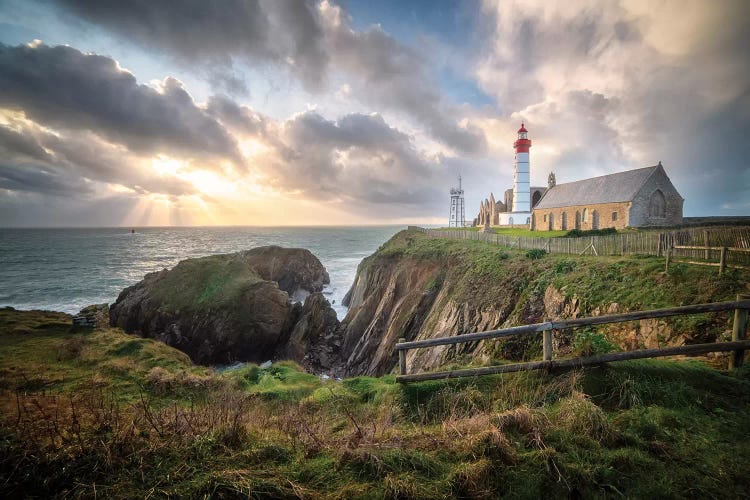
[[[536,323],[730,300],[747,289],[747,273],[678,266],[663,259],[546,255],[503,250],[475,241],[429,239],[403,231],[365,259],[345,298],[342,356],[348,375],[381,375],[396,366],[400,337],[421,340]],[[621,349],[704,342],[731,328],[728,315],[623,323],[602,328]],[[575,331],[555,338],[570,350]],[[410,372],[457,361],[527,359],[538,339],[514,337],[411,350]]]

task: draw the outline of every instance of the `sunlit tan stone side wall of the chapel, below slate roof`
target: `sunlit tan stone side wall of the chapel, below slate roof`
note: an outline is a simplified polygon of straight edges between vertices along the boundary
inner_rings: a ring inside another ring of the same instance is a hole
[[[587,220],[583,220],[583,211],[587,211]],[[565,227],[563,227],[563,213],[565,214]],[[576,226],[576,213],[580,214],[578,226]],[[614,215],[613,214],[617,214]],[[595,227],[594,216],[598,217],[598,224]],[[537,231],[550,230],[550,217],[552,217],[553,231],[570,231],[572,229],[604,229],[614,227],[623,229],[630,224],[630,202],[618,203],[597,203],[594,205],[580,205],[572,207],[559,208],[535,208],[534,209],[534,227]],[[613,220],[614,219],[614,220]]]

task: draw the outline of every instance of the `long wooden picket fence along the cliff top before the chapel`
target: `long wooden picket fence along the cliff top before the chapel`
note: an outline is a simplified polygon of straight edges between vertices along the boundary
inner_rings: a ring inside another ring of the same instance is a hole
[[[579,238],[523,237],[507,234],[480,233],[465,229],[436,230],[417,228],[432,238],[478,240],[495,243],[509,248],[546,250],[549,253],[593,254],[593,255],[657,255],[663,256],[667,248],[681,246],[700,247],[701,251],[711,252],[712,248],[750,249],[750,227],[686,228],[675,231],[638,231],[604,236]],[[709,249],[709,250],[706,250]],[[693,250],[675,250],[672,257],[693,257]],[[718,255],[718,253],[716,254]],[[708,259],[706,259],[708,260]],[[736,252],[729,257],[730,265],[750,265],[750,253]]]

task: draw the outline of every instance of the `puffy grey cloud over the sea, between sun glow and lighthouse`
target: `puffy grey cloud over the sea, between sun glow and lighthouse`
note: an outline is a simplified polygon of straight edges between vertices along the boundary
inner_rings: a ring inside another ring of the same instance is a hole
[[[416,151],[410,138],[380,115],[350,114],[329,121],[315,112],[284,124],[284,147],[268,174],[278,187],[305,197],[364,204],[424,206],[438,193],[434,178],[443,170]]]

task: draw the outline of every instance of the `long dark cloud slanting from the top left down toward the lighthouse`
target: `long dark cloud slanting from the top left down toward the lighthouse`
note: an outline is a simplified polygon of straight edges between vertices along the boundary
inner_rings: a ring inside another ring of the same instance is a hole
[[[462,113],[445,102],[428,56],[379,27],[353,30],[340,7],[303,0],[206,2],[56,0],[66,12],[157,48],[191,66],[231,95],[247,89],[231,68],[266,61],[289,67],[308,90],[323,90],[331,71],[354,78],[354,97],[415,119],[430,135],[462,153],[479,154],[483,132],[459,126]],[[321,15],[323,12],[323,15]]]

